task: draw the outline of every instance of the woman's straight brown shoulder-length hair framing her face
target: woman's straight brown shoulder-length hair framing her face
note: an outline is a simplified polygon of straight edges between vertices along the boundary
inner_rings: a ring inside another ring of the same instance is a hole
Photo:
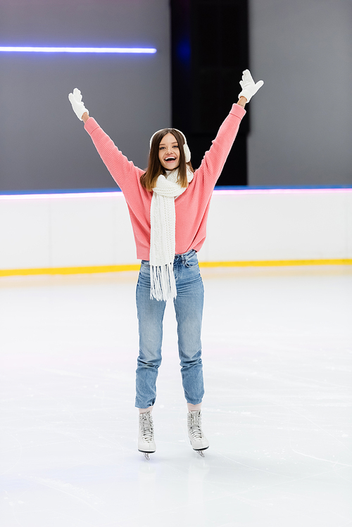
[[[160,130],[160,132],[157,132],[155,136],[153,136],[153,140],[151,141],[151,151],[149,152],[148,168],[146,169],[146,172],[142,174],[140,179],[141,185],[148,191],[152,191],[154,186],[156,186],[156,179],[158,179],[160,174],[163,174],[163,176],[166,174],[166,170],[163,165],[161,165],[159,160],[159,144],[161,143],[161,139],[163,139],[166,134],[172,134],[175,136],[180,150],[180,165],[178,166],[177,182],[182,187],[188,186],[187,165],[190,170],[194,172],[191,162],[186,163],[183,148],[184,138],[182,134],[180,134],[180,132],[175,128],[164,128],[163,130]]]

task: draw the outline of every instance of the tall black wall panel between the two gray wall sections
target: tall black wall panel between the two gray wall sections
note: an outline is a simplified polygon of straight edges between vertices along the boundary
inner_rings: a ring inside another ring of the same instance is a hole
[[[249,67],[248,9],[241,0],[172,0],[172,124],[187,135],[192,163],[204,152],[232,103],[241,72]],[[218,184],[246,184],[249,118]]]

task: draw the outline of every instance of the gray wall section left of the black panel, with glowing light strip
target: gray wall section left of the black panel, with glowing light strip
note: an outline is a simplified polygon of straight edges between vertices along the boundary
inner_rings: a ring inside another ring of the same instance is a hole
[[[68,101],[145,167],[170,126],[168,0],[0,0],[1,45],[142,46],[154,55],[0,53],[0,191],[115,186]]]

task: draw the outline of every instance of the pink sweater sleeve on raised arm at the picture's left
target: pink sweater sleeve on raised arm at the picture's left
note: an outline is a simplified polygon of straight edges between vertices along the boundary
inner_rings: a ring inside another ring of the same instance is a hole
[[[94,146],[103,160],[103,163],[106,165],[113,179],[115,179],[115,182],[120,186],[122,192],[127,180],[132,176],[132,172],[138,172],[137,176],[143,174],[143,170],[135,167],[132,161],[129,161],[126,156],[120,152],[108,134],[103,132],[95,119],[90,117],[86,121],[84,129],[91,136]]]

